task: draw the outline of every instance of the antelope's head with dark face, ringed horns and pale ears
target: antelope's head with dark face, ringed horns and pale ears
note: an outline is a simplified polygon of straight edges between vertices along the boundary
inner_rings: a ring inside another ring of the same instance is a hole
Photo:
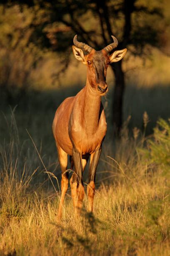
[[[72,51],[75,58],[82,61],[83,64],[87,65],[87,80],[92,90],[95,90],[100,96],[105,95],[108,91],[106,83],[107,67],[112,62],[117,62],[122,59],[127,49],[114,51],[111,55],[108,55],[110,51],[117,47],[118,41],[112,36],[113,43],[106,46],[100,51],[95,51],[92,47],[77,41],[77,35],[75,35],[73,42],[75,46],[72,46]],[[87,54],[84,55],[85,50]]]

